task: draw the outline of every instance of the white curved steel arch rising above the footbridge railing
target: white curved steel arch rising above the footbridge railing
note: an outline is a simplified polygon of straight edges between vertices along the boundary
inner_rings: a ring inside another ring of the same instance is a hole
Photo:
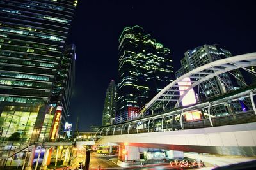
[[[183,99],[184,96],[189,92],[190,89],[196,87],[200,83],[207,81],[214,76],[218,76],[223,73],[227,73],[228,71],[232,71],[234,69],[244,68],[256,66],[256,53],[247,53],[243,55],[237,55],[234,57],[229,57],[221,60],[216,60],[209,64],[205,64],[204,66],[197,67],[189,73],[180,76],[175,81],[172,81],[169,85],[164,87],[151,101],[149,101],[143,110],[140,111],[139,116],[143,115],[145,111],[147,111],[152,104],[156,101],[164,101],[164,97],[169,96],[169,101],[177,101],[175,104],[175,108],[177,108],[180,104],[180,101]],[[189,85],[188,89],[184,91],[182,96],[179,95],[179,85],[178,83],[184,83],[184,78],[190,78],[191,85]]]

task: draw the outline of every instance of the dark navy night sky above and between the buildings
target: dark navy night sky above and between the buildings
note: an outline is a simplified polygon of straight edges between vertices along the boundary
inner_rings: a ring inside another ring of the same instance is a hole
[[[233,55],[256,51],[253,1],[84,1],[77,4],[69,43],[76,44],[76,87],[69,121],[79,130],[101,125],[106,89],[116,80],[118,38],[140,25],[170,48],[174,71],[184,52],[220,44]]]

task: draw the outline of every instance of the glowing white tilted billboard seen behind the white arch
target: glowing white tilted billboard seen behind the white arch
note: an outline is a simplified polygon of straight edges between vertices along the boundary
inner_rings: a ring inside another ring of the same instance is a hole
[[[192,85],[191,80],[189,77],[183,78],[182,81],[178,82],[179,90],[180,90],[180,96],[184,94],[184,92],[189,89],[189,87]],[[189,104],[196,103],[196,97],[195,92],[193,89],[190,89],[188,93],[182,98],[181,100],[182,106],[188,106]]]

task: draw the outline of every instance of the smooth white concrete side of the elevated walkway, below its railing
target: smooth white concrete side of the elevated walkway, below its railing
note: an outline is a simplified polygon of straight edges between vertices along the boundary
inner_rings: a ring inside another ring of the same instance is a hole
[[[180,131],[102,136],[98,145],[128,143],[143,148],[163,148],[220,155],[256,156],[256,122]]]

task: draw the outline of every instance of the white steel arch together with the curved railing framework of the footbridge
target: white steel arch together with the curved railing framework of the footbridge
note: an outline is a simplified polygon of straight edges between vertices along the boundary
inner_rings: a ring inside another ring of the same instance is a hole
[[[256,66],[256,53],[248,53],[244,55],[237,55],[235,57],[230,57],[227,59],[216,60],[209,64],[205,64],[204,66],[193,69],[189,73],[184,74],[183,76],[177,78],[177,80],[173,81],[169,85],[167,85],[161,92],[159,92],[146,106],[144,109],[140,111],[140,115],[133,120],[129,120],[126,122],[122,122],[120,124],[108,125],[106,127],[100,127],[99,132],[100,136],[104,135],[116,135],[116,134],[130,134],[130,133],[140,133],[140,132],[152,132],[153,131],[173,131],[181,130],[186,127],[186,124],[198,125],[195,128],[201,127],[212,127],[221,125],[219,122],[225,122],[228,120],[232,124],[241,124],[241,121],[245,122],[256,122],[256,107],[253,100],[253,96],[256,95],[256,85],[250,85],[248,87],[243,87],[238,90],[234,90],[231,92],[227,92],[225,94],[221,94],[219,96],[211,97],[206,99],[205,101],[197,101],[195,104],[191,104],[189,106],[180,106],[179,103],[182,98],[188,93],[190,89],[196,87],[196,85],[200,85],[200,83],[207,81],[214,76],[218,76],[223,73],[227,73],[228,71],[232,71],[234,69],[245,69],[246,71],[253,72],[248,70],[246,67]],[[253,72],[256,75],[256,72]],[[191,85],[189,85],[188,89],[184,90],[184,94],[179,95],[179,85],[178,83],[184,82],[184,78],[190,78]],[[173,110],[163,111],[160,114],[149,115],[147,117],[141,117],[145,111],[152,106],[156,101],[165,100],[164,97],[168,95],[169,101],[175,101],[176,106]],[[170,97],[171,96],[171,97]],[[245,97],[250,97],[250,101],[252,102],[252,108],[248,113],[238,113],[236,115],[237,119],[233,118],[234,115],[228,115],[227,117],[213,117],[210,112],[210,108],[212,106],[217,106],[219,104],[227,103],[227,101],[236,101],[239,99],[244,99]],[[204,120],[199,120],[198,122],[182,122],[182,114],[185,111],[191,111],[196,109],[205,109],[207,110],[207,117]],[[172,117],[179,116],[180,122],[173,124],[171,120]],[[240,121],[241,119],[241,121]],[[221,121],[220,121],[221,120]],[[240,122],[237,122],[240,121]],[[158,125],[157,122],[158,121]],[[159,125],[159,122],[161,123]],[[172,122],[172,123],[171,123]],[[195,124],[194,124],[195,123]],[[227,123],[227,122],[226,122]],[[228,124],[227,124],[228,125]]]

